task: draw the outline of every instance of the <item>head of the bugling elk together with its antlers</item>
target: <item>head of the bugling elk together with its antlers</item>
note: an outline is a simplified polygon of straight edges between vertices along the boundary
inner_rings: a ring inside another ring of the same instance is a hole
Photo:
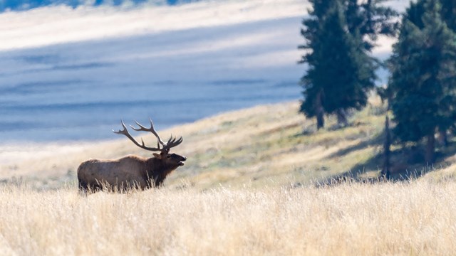
[[[135,128],[131,125],[130,125],[130,127],[132,129],[134,129],[135,131],[151,132],[152,134],[154,134],[158,140],[157,147],[145,146],[142,138],[141,138],[141,143],[137,142],[128,132],[128,129],[127,129],[127,127],[125,127],[123,120],[121,121],[123,129],[119,130],[118,132],[115,132],[113,130],[113,132],[115,134],[125,135],[126,137],[128,137],[128,139],[130,139],[136,146],[139,146],[141,149],[159,152],[158,154],[153,153],[153,156],[155,156],[155,158],[157,158],[157,159],[162,160],[162,162],[163,162],[163,164],[165,164],[165,166],[172,166],[175,168],[177,168],[178,166],[183,166],[184,161],[187,160],[187,158],[185,156],[180,156],[180,155],[174,154],[174,153],[170,154],[170,149],[172,147],[177,146],[182,143],[182,136],[179,139],[177,139],[176,137],[172,137],[172,135],[171,135],[170,139],[168,139],[167,142],[163,142],[162,139],[160,139],[160,136],[157,134],[157,131],[155,131],[152,119],[149,118],[149,120],[150,120],[150,128],[144,127],[144,126],[142,126],[142,124],[140,124],[136,121],[135,121],[135,123],[138,124],[139,128]]]

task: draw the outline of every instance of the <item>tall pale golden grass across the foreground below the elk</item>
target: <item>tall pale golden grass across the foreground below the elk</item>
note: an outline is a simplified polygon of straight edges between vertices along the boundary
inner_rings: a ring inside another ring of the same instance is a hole
[[[452,255],[456,183],[152,189],[0,187],[1,255]]]

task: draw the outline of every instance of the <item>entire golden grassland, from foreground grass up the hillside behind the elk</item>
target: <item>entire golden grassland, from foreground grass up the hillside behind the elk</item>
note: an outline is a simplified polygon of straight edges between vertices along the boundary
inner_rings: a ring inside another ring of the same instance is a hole
[[[393,176],[418,173],[405,181],[320,186],[378,176],[385,108],[372,100],[351,127],[330,118],[323,131],[297,108],[259,106],[160,132],[182,134],[175,151],[188,161],[165,188],[143,192],[76,191],[83,160],[147,156],[127,139],[1,146],[0,254],[452,255],[455,142],[437,152],[438,168],[394,147]]]

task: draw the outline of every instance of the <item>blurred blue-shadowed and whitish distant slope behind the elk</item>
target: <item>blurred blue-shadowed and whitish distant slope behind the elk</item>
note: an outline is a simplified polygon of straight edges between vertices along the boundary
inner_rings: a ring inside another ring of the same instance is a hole
[[[400,2],[398,2],[400,4]],[[297,100],[304,0],[0,14],[0,142],[114,139]],[[388,54],[382,43],[377,55]]]

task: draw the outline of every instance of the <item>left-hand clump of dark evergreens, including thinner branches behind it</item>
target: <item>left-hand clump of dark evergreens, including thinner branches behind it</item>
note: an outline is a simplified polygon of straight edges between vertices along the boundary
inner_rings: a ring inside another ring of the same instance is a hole
[[[382,7],[384,0],[311,0],[309,18],[304,19],[301,35],[308,50],[300,63],[309,66],[301,78],[304,101],[301,112],[317,117],[317,128],[324,126],[324,114],[337,114],[346,124],[346,112],[361,110],[373,88],[378,61],[369,53],[378,34],[393,35],[397,15]],[[341,51],[346,51],[341,53]]]

